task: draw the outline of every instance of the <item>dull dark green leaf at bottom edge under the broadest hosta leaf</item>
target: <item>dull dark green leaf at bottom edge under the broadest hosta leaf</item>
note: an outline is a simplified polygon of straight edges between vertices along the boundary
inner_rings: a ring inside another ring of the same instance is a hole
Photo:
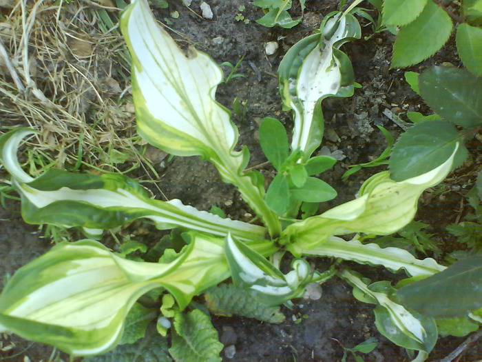
[[[118,345],[114,350],[97,356],[85,357],[83,362],[172,362],[167,352],[167,340],[149,330],[136,343]]]

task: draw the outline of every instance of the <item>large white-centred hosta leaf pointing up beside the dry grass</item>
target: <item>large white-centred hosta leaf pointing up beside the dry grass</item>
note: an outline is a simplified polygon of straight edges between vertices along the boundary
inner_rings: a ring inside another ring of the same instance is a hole
[[[194,48],[182,52],[158,26],[146,0],[133,0],[121,17],[121,30],[132,55],[132,94],[137,128],[152,145],[178,156],[200,155],[238,186],[271,234],[280,223],[264,203],[264,188],[243,174],[249,152],[235,152],[238,130],[229,111],[214,100],[222,70]]]

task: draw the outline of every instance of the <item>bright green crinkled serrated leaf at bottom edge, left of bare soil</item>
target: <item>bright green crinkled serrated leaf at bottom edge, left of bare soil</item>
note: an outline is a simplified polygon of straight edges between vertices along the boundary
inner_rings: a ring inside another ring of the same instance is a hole
[[[200,310],[177,313],[169,353],[176,362],[220,362],[224,345],[209,316]]]

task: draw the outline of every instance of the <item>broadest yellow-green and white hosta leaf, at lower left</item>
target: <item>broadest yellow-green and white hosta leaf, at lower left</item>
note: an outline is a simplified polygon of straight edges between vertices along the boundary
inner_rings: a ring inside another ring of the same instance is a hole
[[[77,356],[121,339],[136,299],[160,286],[180,308],[229,277],[222,239],[191,233],[171,263],[130,261],[96,241],[61,243],[20,268],[0,295],[0,332],[48,343]]]

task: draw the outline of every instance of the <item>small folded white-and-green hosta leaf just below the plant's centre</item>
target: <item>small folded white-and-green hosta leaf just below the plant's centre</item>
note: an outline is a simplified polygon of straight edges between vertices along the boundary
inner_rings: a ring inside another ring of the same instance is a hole
[[[293,270],[283,274],[265,257],[228,235],[225,252],[235,285],[251,290],[266,305],[278,305],[297,298],[311,282],[310,266],[304,259],[291,263]]]

